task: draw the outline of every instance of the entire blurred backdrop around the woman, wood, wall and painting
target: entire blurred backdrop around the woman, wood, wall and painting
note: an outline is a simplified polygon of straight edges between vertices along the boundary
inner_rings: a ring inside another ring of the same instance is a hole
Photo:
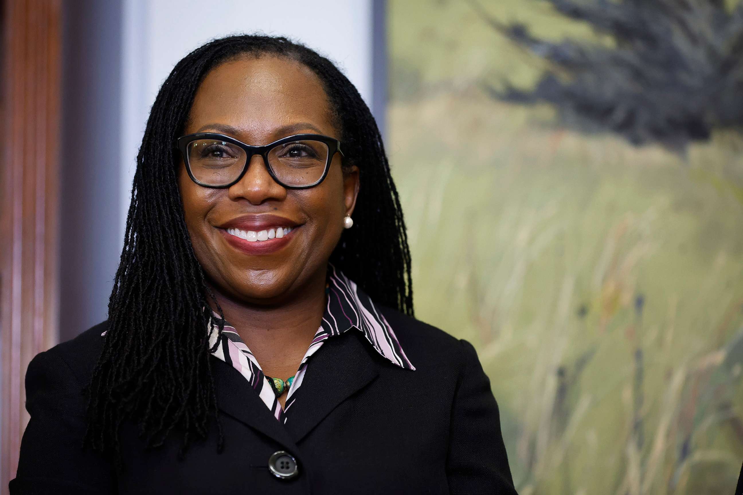
[[[203,42],[262,31],[369,103],[416,315],[477,347],[520,494],[733,493],[739,1],[0,4],[3,490],[27,361],[106,318],[160,83]]]

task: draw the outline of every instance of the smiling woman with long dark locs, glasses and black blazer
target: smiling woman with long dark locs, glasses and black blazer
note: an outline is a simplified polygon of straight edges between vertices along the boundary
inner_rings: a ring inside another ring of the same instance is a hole
[[[28,367],[11,493],[515,493],[475,350],[412,315],[354,86],[210,42],[152,106],[108,321]]]

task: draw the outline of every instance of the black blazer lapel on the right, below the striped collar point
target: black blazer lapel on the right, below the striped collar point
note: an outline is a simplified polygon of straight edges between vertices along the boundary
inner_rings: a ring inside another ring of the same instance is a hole
[[[308,361],[296,403],[288,410],[284,425],[293,442],[299,442],[339,404],[377,377],[378,364],[370,354],[375,351],[363,338],[359,330],[349,329],[328,338]]]

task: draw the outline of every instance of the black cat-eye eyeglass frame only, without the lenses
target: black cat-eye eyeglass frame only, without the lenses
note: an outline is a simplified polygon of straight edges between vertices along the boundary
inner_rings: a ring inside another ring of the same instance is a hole
[[[237,145],[242,148],[243,151],[245,151],[246,158],[245,164],[242,165],[242,171],[240,172],[238,177],[231,183],[224,184],[224,186],[212,186],[211,184],[204,184],[197,180],[196,177],[193,176],[191,165],[189,165],[188,161],[188,145],[196,140],[219,140],[230,142],[233,145]],[[325,170],[322,171],[322,175],[315,183],[309,184],[307,186],[290,186],[289,184],[282,183],[282,181],[279,180],[278,177],[276,177],[276,174],[273,173],[273,169],[271,168],[270,163],[268,163],[268,152],[276,146],[287,144],[288,142],[302,140],[314,140],[325,143],[325,145],[328,146],[328,160],[325,161]],[[184,159],[184,165],[186,165],[186,171],[188,172],[189,177],[191,177],[191,180],[194,183],[197,183],[199,186],[208,187],[211,189],[227,189],[234,186],[236,183],[239,183],[242,177],[245,175],[245,172],[247,171],[247,165],[248,163],[250,163],[250,159],[252,159],[253,155],[256,154],[259,154],[263,157],[263,164],[266,165],[268,174],[270,174],[271,178],[275,180],[276,183],[278,183],[280,186],[285,187],[286,189],[310,189],[311,187],[317,186],[319,183],[325,180],[325,177],[327,177],[328,175],[328,170],[330,170],[330,164],[333,162],[333,157],[336,153],[340,153],[341,157],[345,156],[343,154],[343,151],[341,151],[340,149],[339,140],[335,139],[334,137],[324,136],[322,134],[293,134],[292,136],[282,137],[280,140],[270,142],[269,144],[264,146],[251,146],[246,145],[244,142],[236,140],[233,137],[225,136],[224,134],[218,134],[215,132],[197,132],[195,134],[186,134],[185,136],[181,136],[177,140],[175,140],[175,143],[178,147],[178,150],[181,151],[181,156]]]

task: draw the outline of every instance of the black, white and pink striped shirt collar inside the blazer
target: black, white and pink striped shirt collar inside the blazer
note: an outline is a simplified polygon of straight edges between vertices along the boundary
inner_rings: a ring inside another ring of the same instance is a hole
[[[317,353],[322,344],[334,335],[340,335],[346,330],[356,329],[363,333],[371,347],[393,364],[406,370],[415,370],[405,355],[400,342],[395,336],[392,327],[386,319],[377,311],[374,303],[363,291],[358,289],[356,283],[348,280],[342,272],[333,265],[328,265],[328,302],[325,313],[322,315],[320,327],[315,332],[312,343],[302,358],[294,376],[294,381],[289,387],[286,399],[286,407],[282,409],[279,399],[273,392],[268,378],[263,374],[260,364],[247,345],[242,341],[234,327],[227,322],[221,336],[218,335],[217,322],[212,320],[212,331],[210,332],[210,347],[219,345],[214,355],[222,361],[233,366],[250,383],[253,390],[260,396],[266,407],[280,422],[286,422],[285,411],[288,411],[296,400],[296,390],[302,386],[302,379],[307,372],[308,360],[311,355]],[[215,315],[215,319],[218,315]]]

